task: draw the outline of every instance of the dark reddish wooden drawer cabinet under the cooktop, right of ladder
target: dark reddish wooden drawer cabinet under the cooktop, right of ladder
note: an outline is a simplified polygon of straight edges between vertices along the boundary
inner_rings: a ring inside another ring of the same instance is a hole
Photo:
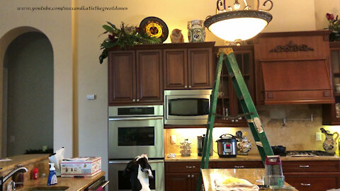
[[[283,161],[285,182],[297,190],[340,187],[340,161]]]

